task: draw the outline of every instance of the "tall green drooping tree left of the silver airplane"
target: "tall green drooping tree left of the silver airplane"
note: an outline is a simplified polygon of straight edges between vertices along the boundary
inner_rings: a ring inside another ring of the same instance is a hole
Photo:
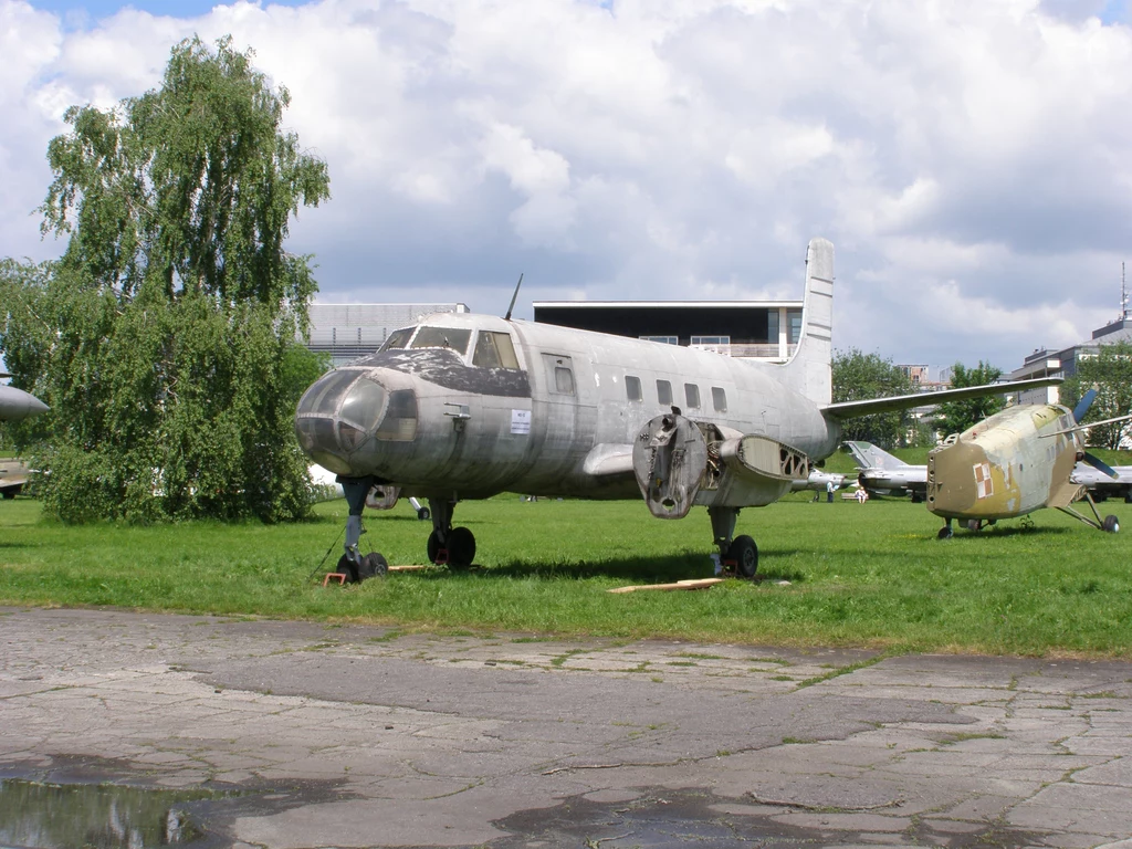
[[[288,103],[230,38],[192,38],[160,88],[66,112],[41,212],[67,249],[0,267],[0,350],[52,408],[35,420],[50,513],[307,512],[292,415],[324,365],[297,343],[317,286],[283,243],[329,178],[280,130]]]

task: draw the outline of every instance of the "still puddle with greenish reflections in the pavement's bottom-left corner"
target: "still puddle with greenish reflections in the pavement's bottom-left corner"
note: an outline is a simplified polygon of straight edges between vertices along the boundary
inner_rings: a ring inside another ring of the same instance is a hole
[[[224,798],[212,790],[152,790],[121,784],[54,784],[0,779],[0,847],[149,849],[204,837],[190,803]]]

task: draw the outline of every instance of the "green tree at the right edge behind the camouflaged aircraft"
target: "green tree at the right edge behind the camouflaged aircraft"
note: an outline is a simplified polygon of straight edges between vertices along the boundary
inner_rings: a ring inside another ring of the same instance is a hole
[[[1077,375],[1062,385],[1062,401],[1074,406],[1094,387],[1097,397],[1083,421],[1105,421],[1132,413],[1132,343],[1101,344],[1095,357],[1079,355]],[[1089,429],[1089,444],[1098,448],[1116,449],[1129,438],[1132,423],[1127,421]]]

